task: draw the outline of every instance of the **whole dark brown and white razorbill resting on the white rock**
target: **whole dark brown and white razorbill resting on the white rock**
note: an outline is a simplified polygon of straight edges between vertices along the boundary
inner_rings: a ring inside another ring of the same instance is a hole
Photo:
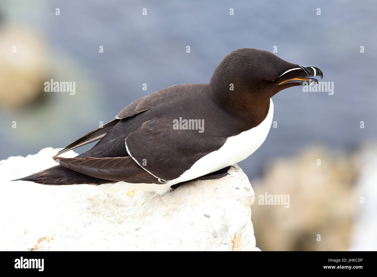
[[[59,165],[20,178],[49,185],[113,184],[162,194],[193,179],[227,175],[267,137],[271,97],[318,83],[320,69],[288,63],[263,50],[231,52],[207,84],[180,84],[144,96],[116,118],[52,157]],[[76,158],[58,155],[100,141]]]

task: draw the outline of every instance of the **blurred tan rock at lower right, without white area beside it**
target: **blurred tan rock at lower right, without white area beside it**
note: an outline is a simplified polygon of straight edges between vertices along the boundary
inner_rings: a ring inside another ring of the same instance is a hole
[[[264,178],[251,182],[257,246],[262,251],[348,250],[358,208],[357,174],[351,156],[321,147],[271,162]],[[289,207],[259,205],[266,192],[289,195]]]

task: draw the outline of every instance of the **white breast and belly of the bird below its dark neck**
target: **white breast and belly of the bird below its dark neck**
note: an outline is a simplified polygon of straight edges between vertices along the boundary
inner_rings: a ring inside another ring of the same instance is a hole
[[[270,99],[270,109],[261,124],[239,135],[228,138],[219,150],[205,155],[203,158],[196,161],[189,170],[186,170],[178,178],[167,182],[167,184],[173,185],[179,182],[189,181],[246,159],[253,154],[267,138],[273,114],[274,104],[272,103],[272,99]]]

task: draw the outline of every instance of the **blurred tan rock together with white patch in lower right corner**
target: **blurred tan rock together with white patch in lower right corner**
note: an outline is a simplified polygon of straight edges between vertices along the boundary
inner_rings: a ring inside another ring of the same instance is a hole
[[[263,178],[251,182],[257,246],[263,251],[377,250],[376,167],[377,144],[353,153],[311,147],[271,162]],[[289,195],[289,207],[260,205],[266,192]]]

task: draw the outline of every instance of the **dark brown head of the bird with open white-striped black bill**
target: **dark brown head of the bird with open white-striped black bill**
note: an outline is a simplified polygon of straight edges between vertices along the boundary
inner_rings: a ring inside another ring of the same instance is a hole
[[[237,97],[257,105],[288,87],[317,84],[318,80],[311,78],[315,76],[323,77],[317,67],[288,63],[268,51],[242,48],[225,56],[216,67],[210,90],[215,97]]]

